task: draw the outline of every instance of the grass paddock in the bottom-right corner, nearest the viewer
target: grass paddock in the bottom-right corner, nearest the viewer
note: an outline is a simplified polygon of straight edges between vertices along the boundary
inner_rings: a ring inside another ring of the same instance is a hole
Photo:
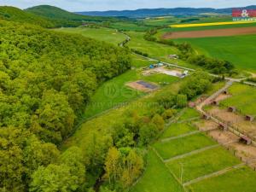
[[[189,192],[255,192],[256,174],[248,167],[212,177],[188,187]]]

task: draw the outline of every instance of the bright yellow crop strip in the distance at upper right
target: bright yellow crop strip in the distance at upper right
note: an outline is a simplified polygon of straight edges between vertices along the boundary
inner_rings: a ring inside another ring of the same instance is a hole
[[[194,26],[224,26],[224,25],[247,24],[247,23],[255,23],[255,22],[256,21],[230,21],[230,22],[213,22],[213,23],[194,23],[194,24],[172,25],[172,27],[183,28],[183,27],[194,27]]]

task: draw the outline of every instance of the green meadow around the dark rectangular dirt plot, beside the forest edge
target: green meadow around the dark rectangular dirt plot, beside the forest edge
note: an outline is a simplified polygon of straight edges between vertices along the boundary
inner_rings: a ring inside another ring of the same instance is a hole
[[[133,56],[133,67],[145,67],[152,61],[143,61],[137,56]],[[145,93],[133,90],[126,86],[126,83],[144,80],[147,82],[153,82],[155,84],[172,84],[179,79],[176,77],[168,76],[165,74],[152,74],[149,76],[143,76],[142,71],[139,68],[129,70],[126,73],[119,75],[118,77],[109,80],[102,84],[97,90],[94,96],[92,96],[90,104],[84,111],[84,118],[88,119],[96,114],[102,113],[110,108],[114,108],[119,105],[124,105],[126,102],[131,102],[140,96],[144,96]]]

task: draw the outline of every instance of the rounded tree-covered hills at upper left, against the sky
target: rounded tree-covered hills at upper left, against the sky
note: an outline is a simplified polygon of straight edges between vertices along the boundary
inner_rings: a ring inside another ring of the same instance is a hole
[[[30,23],[46,28],[81,26],[87,22],[104,24],[104,22],[119,20],[118,18],[77,15],[49,5],[41,5],[26,10],[0,6],[0,19]]]

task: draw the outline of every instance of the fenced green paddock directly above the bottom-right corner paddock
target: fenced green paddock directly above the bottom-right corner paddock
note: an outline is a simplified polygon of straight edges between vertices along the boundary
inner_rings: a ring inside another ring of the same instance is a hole
[[[199,154],[193,154],[167,163],[177,177],[181,175],[183,165],[183,183],[189,182],[212,172],[218,172],[230,166],[240,164],[235,156],[222,147],[212,148]]]

